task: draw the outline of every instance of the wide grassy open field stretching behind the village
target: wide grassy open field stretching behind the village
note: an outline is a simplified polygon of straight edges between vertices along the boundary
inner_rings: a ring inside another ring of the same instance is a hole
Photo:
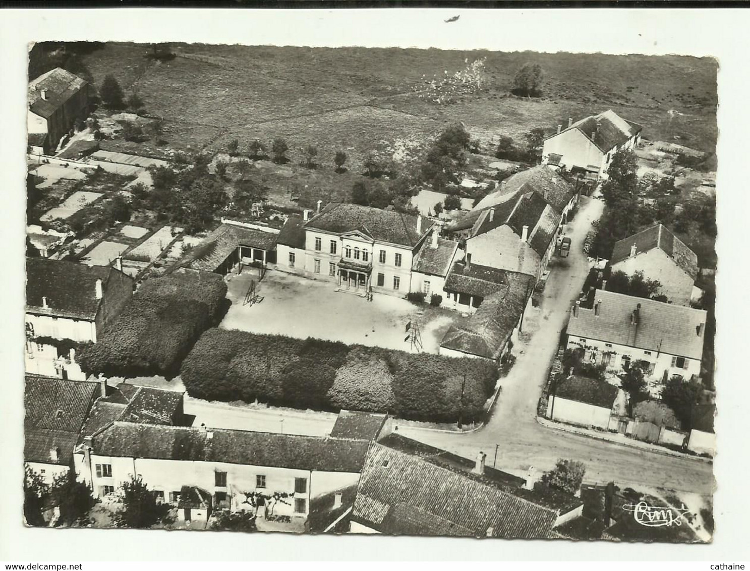
[[[356,164],[369,149],[398,137],[428,138],[457,120],[491,143],[535,126],[551,132],[568,117],[608,108],[643,124],[646,138],[707,152],[715,146],[712,59],[197,44],[173,50],[175,59],[159,63],[145,58],[145,46],[107,44],[84,60],[95,85],[114,73],[126,92],[136,89],[146,111],[163,116],[163,137],[177,149],[282,136],[293,161],[301,146],[315,143],[320,160],[342,148]],[[487,58],[484,92],[445,107],[415,95],[423,75],[452,74],[480,57]],[[544,68],[543,98],[509,95],[527,61]]]

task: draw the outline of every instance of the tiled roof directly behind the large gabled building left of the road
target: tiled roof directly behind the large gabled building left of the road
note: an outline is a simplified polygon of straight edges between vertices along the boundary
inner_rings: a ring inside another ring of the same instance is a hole
[[[500,188],[482,198],[474,210],[484,210],[504,203],[509,196],[518,191],[522,194],[527,192],[539,194],[558,214],[562,214],[562,209],[568,205],[575,194],[573,185],[557,170],[547,164],[539,164],[509,176],[500,183]]]

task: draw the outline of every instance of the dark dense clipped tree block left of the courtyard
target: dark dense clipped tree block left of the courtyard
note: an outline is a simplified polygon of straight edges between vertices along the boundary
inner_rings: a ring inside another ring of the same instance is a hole
[[[174,377],[202,332],[226,312],[226,284],[181,270],[145,281],[98,343],[80,355],[87,374]]]

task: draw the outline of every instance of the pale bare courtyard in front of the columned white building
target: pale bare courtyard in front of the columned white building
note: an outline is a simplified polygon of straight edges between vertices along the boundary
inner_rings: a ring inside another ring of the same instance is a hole
[[[251,281],[256,281],[259,303],[245,302]],[[320,338],[388,349],[410,350],[404,341],[409,321],[419,323],[422,351],[437,353],[440,340],[452,323],[466,320],[460,314],[406,299],[374,294],[373,301],[335,291],[320,281],[269,270],[258,282],[257,269],[229,277],[227,297],[232,307],[221,326],[254,333]]]

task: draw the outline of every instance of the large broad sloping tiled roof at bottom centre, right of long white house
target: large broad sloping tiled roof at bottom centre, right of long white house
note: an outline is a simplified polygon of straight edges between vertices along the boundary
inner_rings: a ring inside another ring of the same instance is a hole
[[[373,444],[353,521],[382,533],[481,537],[491,528],[495,537],[550,536],[556,509],[516,495],[510,485],[423,455],[418,443],[410,451],[408,442],[413,441],[391,435]]]

